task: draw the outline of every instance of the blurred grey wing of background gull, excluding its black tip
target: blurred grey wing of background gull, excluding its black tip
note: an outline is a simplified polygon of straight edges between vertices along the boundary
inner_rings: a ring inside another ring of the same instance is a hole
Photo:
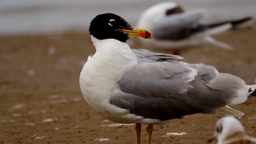
[[[166,16],[155,22],[152,35],[159,40],[181,40],[188,38],[193,30],[200,26],[202,18],[202,10]]]

